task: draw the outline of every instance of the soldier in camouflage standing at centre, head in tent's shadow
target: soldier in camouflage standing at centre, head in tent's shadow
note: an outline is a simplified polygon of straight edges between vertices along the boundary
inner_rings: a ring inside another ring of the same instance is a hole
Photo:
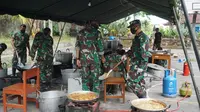
[[[99,93],[101,75],[101,61],[104,62],[103,40],[98,31],[99,24],[90,21],[77,36],[76,60],[77,66],[82,68],[83,90],[90,90]]]

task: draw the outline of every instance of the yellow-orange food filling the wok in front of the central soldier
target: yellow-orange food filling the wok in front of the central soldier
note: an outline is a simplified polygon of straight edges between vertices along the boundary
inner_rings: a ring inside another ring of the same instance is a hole
[[[70,99],[75,101],[88,101],[88,100],[94,100],[97,98],[97,95],[92,92],[87,93],[72,93],[68,96]]]

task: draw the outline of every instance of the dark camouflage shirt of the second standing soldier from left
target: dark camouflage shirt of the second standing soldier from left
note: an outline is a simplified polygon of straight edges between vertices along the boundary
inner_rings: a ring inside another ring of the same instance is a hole
[[[37,60],[53,60],[53,38],[51,36],[45,36],[43,33],[39,32],[35,35],[33,45],[31,47],[31,57],[35,56],[36,51]]]

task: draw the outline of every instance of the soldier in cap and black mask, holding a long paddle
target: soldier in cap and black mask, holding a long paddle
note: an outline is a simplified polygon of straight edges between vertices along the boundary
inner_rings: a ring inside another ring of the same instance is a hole
[[[127,89],[134,92],[139,98],[146,97],[144,73],[147,70],[148,59],[151,56],[149,50],[149,38],[141,30],[140,20],[134,20],[128,27],[135,38],[132,40],[131,50],[128,52],[126,69]]]

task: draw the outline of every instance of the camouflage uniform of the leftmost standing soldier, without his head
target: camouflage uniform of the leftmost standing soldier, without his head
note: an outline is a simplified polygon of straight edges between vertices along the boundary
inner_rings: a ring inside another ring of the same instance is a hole
[[[25,64],[27,61],[27,43],[29,42],[29,35],[27,33],[22,33],[21,31],[14,34],[12,37],[14,40],[14,47],[17,50],[19,58],[21,58],[21,63]],[[16,68],[18,63],[16,51],[14,51],[13,59],[12,59],[12,66]],[[14,74],[13,74],[14,75]]]

